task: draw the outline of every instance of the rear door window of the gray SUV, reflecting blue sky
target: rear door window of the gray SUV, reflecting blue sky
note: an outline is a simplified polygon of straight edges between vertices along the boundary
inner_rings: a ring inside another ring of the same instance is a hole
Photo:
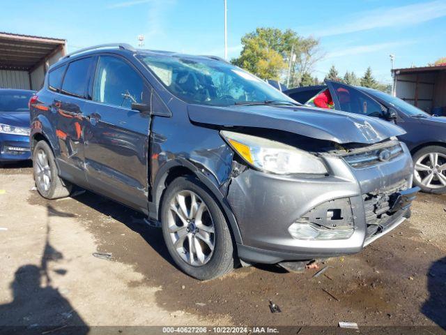
[[[89,83],[89,68],[91,57],[72,61],[68,65],[63,78],[62,92],[79,98],[85,98],[85,92]]]

